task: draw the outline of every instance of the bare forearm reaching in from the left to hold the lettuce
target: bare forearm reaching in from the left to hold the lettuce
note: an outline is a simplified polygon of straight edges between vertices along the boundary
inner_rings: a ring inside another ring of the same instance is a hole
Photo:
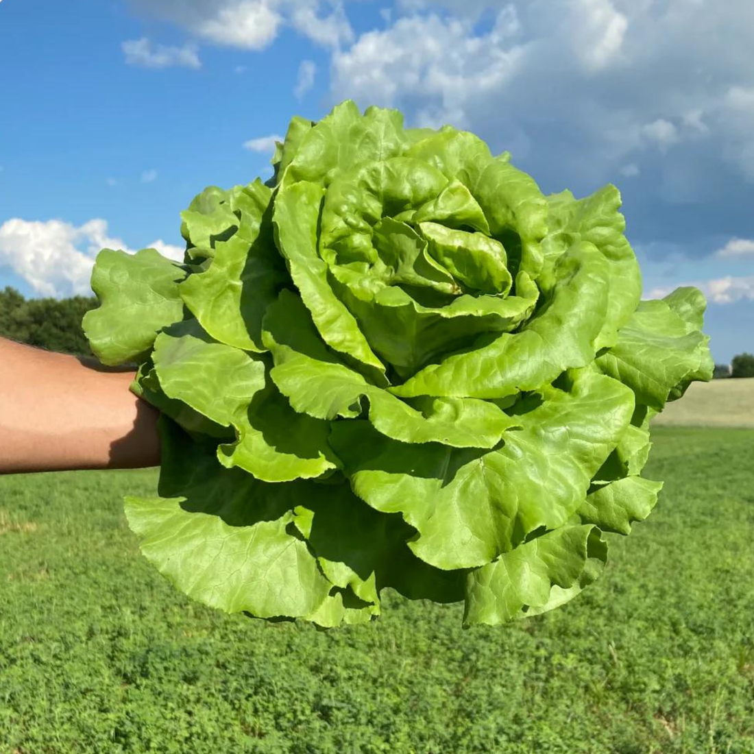
[[[0,474],[157,466],[159,413],[134,376],[0,338]]]

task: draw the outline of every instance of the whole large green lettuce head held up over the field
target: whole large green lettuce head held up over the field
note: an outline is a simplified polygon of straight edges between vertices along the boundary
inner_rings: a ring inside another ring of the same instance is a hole
[[[322,627],[380,593],[538,615],[657,502],[649,421],[709,380],[706,302],[641,302],[621,196],[545,196],[473,133],[346,101],[204,189],[182,263],[105,249],[84,317],[161,412],[144,555],[204,604]]]

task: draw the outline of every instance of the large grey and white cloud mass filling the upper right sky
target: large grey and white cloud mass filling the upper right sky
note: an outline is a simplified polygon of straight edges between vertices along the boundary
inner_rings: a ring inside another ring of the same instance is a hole
[[[719,234],[731,216],[721,186],[754,181],[749,0],[402,0],[394,11],[333,55],[333,103],[474,130],[548,190],[637,178],[648,230],[670,233],[667,216],[650,216],[667,202],[700,205],[682,232]],[[624,172],[632,164],[640,178]]]

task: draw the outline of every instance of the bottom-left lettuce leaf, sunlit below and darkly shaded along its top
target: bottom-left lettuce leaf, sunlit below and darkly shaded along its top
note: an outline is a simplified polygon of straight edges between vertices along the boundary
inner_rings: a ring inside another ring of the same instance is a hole
[[[192,442],[161,419],[161,498],[127,498],[142,552],[189,596],[227,612],[260,618],[309,615],[331,584],[305,541],[289,532],[301,498],[225,470],[213,443]]]

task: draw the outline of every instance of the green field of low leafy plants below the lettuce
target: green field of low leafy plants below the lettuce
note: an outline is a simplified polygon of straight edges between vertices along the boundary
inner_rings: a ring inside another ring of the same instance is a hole
[[[754,431],[655,435],[661,503],[605,576],[498,629],[221,615],[138,554],[154,471],[2,478],[0,754],[752,754]]]

